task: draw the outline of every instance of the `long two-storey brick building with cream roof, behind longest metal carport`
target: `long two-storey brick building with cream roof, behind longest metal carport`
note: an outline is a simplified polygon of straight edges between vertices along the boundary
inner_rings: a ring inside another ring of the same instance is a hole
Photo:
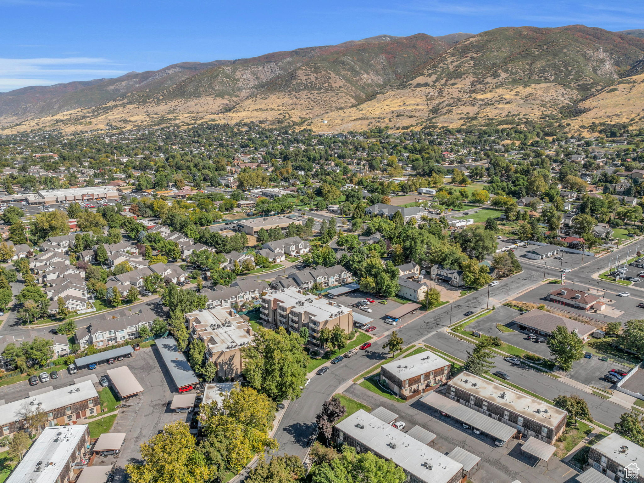
[[[464,371],[447,384],[451,400],[550,444],[564,431],[567,413],[542,400]]]

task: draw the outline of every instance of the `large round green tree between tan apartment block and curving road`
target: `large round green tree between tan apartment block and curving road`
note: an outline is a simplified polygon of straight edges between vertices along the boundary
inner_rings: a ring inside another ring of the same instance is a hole
[[[283,327],[276,331],[260,328],[253,342],[242,347],[243,374],[251,387],[275,401],[297,399],[307,379],[299,335]]]

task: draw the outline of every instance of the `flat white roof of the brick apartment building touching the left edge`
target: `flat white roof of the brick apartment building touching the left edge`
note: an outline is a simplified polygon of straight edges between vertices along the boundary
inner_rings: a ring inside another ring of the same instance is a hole
[[[65,386],[64,388],[48,391],[41,395],[19,399],[2,406],[2,411],[0,411],[0,424],[8,424],[18,419],[18,415],[22,412],[23,406],[50,412],[53,409],[66,408],[82,400],[98,397],[98,395],[99,393],[96,392],[93,382],[91,380],[85,380],[80,384],[73,384],[71,386]]]

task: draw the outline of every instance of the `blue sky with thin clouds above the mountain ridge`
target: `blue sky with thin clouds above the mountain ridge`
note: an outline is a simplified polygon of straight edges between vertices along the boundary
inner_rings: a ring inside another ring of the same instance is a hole
[[[0,0],[0,92],[379,34],[577,23],[644,28],[641,6],[641,0]]]

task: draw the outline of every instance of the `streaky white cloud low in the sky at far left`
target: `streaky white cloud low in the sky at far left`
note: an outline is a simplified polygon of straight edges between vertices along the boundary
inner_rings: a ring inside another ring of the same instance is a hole
[[[102,57],[0,58],[0,92],[25,86],[117,77],[128,72],[118,66]]]

